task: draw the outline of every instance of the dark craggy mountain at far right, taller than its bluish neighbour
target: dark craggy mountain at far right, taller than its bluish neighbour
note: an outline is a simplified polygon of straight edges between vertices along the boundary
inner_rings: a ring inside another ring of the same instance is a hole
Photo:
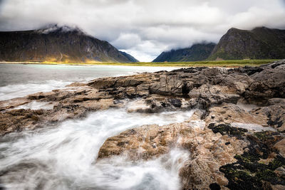
[[[219,40],[209,60],[285,58],[285,30],[266,27],[252,31],[231,28]]]

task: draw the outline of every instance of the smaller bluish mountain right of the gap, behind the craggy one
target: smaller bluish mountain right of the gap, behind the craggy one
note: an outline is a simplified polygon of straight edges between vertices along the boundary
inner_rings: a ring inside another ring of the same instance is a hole
[[[160,56],[152,60],[152,62],[205,60],[209,57],[214,46],[215,43],[197,43],[190,48],[162,52]]]

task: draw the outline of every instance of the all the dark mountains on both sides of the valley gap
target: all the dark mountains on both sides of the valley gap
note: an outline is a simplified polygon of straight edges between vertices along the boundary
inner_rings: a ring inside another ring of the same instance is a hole
[[[153,62],[285,58],[285,30],[266,27],[252,31],[230,28],[215,43],[162,52]],[[33,31],[0,32],[0,61],[59,63],[138,62],[81,29],[51,25]]]

